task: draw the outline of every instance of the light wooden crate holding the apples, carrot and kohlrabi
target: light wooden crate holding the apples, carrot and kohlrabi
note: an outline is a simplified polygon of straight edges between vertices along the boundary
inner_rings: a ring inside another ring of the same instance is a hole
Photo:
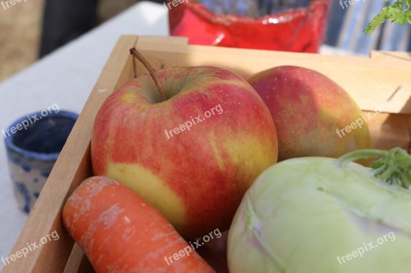
[[[240,76],[281,65],[319,71],[341,85],[368,112],[391,98],[393,108],[368,122],[375,148],[411,148],[411,53],[372,52],[370,58],[325,56],[206,46],[189,46],[183,37],[121,36],[55,164],[12,253],[57,230],[51,241],[27,258],[7,265],[4,272],[86,272],[92,270],[81,249],[61,221],[62,207],[74,189],[92,176],[91,130],[103,101],[146,70],[128,50],[136,46],[155,69],[170,66],[211,65]],[[393,93],[402,86],[394,95]]]

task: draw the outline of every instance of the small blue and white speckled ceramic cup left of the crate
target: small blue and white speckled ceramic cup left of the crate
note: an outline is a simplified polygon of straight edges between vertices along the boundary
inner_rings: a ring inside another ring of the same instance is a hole
[[[54,106],[22,117],[2,131],[14,195],[26,213],[33,208],[78,118]]]

